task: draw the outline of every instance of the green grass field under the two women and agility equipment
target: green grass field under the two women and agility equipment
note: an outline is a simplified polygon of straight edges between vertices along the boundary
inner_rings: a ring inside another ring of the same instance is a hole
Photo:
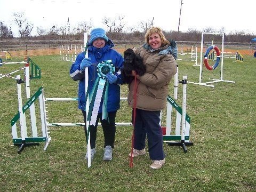
[[[43,86],[46,98],[77,97],[77,82],[69,77],[71,62],[60,61],[59,55],[31,59],[42,70],[41,79],[30,81],[31,93]],[[188,81],[199,81],[199,67],[192,61],[178,63],[180,80],[187,75]],[[2,66],[0,73],[17,68]],[[190,140],[194,146],[189,146],[185,154],[181,147],[165,143],[166,163],[160,170],[150,169],[148,153],[134,158],[130,168],[131,126],[117,127],[110,162],[102,160],[103,133],[99,127],[97,154],[90,169],[84,158],[82,127],[50,127],[52,140],[46,151],[41,143],[17,154],[10,125],[18,112],[17,86],[14,79],[1,78],[0,191],[256,191],[255,74],[256,59],[246,55],[244,62],[224,60],[223,79],[235,83],[215,83],[214,88],[187,84],[187,114],[191,117]],[[220,78],[220,66],[213,71],[204,67],[202,81],[208,78]],[[121,90],[121,96],[126,97],[126,85]],[[173,79],[169,94],[173,96]],[[180,106],[181,95],[179,85]],[[121,103],[116,120],[129,122],[131,109],[125,101]],[[48,107],[51,123],[83,122],[76,102],[52,101]]]

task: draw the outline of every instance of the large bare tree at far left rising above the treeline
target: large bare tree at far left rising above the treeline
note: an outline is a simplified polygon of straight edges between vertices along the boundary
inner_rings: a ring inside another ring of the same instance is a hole
[[[21,38],[29,37],[31,30],[33,29],[34,25],[27,21],[24,12],[20,13],[13,13],[14,22],[19,27],[19,35]]]

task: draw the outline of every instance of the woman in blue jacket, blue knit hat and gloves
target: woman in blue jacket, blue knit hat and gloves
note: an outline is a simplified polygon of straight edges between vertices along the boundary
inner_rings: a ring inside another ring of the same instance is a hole
[[[93,159],[96,153],[96,138],[97,138],[97,125],[100,120],[105,145],[103,160],[110,161],[112,159],[112,152],[115,141],[115,117],[116,112],[120,107],[120,87],[121,73],[120,68],[123,66],[123,57],[111,47],[114,46],[113,42],[106,36],[106,31],[102,28],[94,28],[91,31],[91,37],[88,43],[88,58],[85,58],[85,53],[82,52],[77,55],[76,61],[73,63],[70,69],[70,76],[74,81],[79,80],[78,86],[78,109],[82,110],[84,116],[84,129],[86,134],[86,99],[85,99],[85,67],[88,67],[89,84],[88,90],[91,93],[95,80],[97,79],[98,72],[97,66],[102,61],[111,60],[115,67],[115,73],[108,73],[106,79],[109,82],[108,86],[108,100],[107,100],[107,113],[108,119],[102,119],[102,99],[100,102],[98,116],[95,125],[90,125],[91,136],[91,159]],[[85,156],[88,159],[88,153]]]

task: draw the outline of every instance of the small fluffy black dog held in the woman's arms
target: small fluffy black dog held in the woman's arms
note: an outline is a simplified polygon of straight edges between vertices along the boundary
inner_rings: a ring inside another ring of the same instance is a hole
[[[121,70],[124,84],[129,84],[134,79],[132,70],[136,71],[139,76],[146,73],[146,66],[143,64],[143,59],[136,55],[132,49],[127,49],[124,52],[124,67]]]

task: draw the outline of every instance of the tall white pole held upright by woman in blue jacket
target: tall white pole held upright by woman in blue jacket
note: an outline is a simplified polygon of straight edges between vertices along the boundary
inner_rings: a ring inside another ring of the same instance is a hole
[[[87,33],[84,33],[84,51],[86,48],[86,44],[87,44]],[[85,52],[85,58],[88,58],[88,51]],[[85,95],[88,91],[88,67],[85,67]],[[88,94],[89,95],[89,94]],[[87,121],[87,116],[89,113],[89,97],[87,97],[86,99],[86,132],[89,129],[89,121]],[[88,167],[91,167],[91,134],[90,132],[88,133],[88,143],[87,143],[87,153],[88,153]]]

